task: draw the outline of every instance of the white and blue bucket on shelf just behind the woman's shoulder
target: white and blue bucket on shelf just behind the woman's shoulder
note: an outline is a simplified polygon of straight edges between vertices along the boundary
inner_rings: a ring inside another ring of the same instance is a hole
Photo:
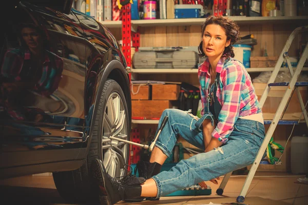
[[[252,46],[246,44],[235,44],[234,48],[234,58],[241,61],[245,68],[250,68],[250,56],[252,52]]]

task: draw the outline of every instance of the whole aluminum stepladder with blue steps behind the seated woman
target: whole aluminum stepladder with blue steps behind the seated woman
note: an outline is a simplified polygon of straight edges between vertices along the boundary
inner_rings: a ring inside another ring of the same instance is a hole
[[[301,73],[302,71],[302,68],[305,64],[305,61],[307,60],[308,58],[308,43],[306,44],[303,52],[302,52],[302,55],[298,61],[298,65],[296,67],[296,70],[293,70],[292,68],[292,65],[291,65],[291,61],[290,61],[290,58],[288,57],[288,49],[290,48],[292,42],[293,42],[293,39],[295,38],[295,36],[299,33],[303,33],[303,32],[307,32],[308,31],[308,26],[303,26],[303,27],[298,27],[296,28],[292,33],[291,35],[288,37],[288,39],[286,40],[286,43],[279,55],[279,58],[277,60],[277,63],[275,65],[275,68],[272,72],[272,75],[271,77],[269,78],[267,84],[268,86],[265,88],[261,98],[260,98],[260,106],[261,108],[263,107],[264,105],[264,102],[266,100],[266,97],[269,93],[269,91],[271,90],[271,87],[273,86],[287,86],[286,88],[286,91],[282,97],[282,100],[277,108],[277,111],[276,111],[276,114],[273,118],[273,120],[264,120],[264,124],[270,124],[267,132],[266,132],[266,135],[265,135],[265,138],[263,140],[263,143],[259,149],[259,152],[256,156],[256,159],[255,161],[253,162],[253,165],[251,167],[251,169],[249,170],[249,173],[246,177],[246,180],[244,182],[244,186],[242,188],[242,191],[240,193],[240,195],[237,197],[237,202],[243,202],[244,199],[245,199],[245,196],[247,194],[247,191],[248,191],[248,188],[249,186],[251,185],[251,182],[255,176],[255,173],[257,171],[257,168],[262,160],[262,157],[263,157],[263,154],[265,153],[265,150],[267,148],[267,145],[269,143],[269,141],[271,140],[273,134],[274,134],[274,131],[276,129],[276,126],[277,125],[294,125],[294,124],[298,124],[298,121],[291,121],[291,120],[280,120],[280,118],[282,117],[285,109],[286,109],[286,106],[288,104],[288,101],[289,99],[291,98],[294,90],[297,92],[297,96],[299,98],[299,103],[300,103],[300,106],[301,106],[301,109],[303,111],[303,115],[304,115],[304,119],[305,119],[305,122],[306,122],[306,125],[307,125],[307,128],[308,128],[308,116],[307,116],[307,113],[305,111],[305,105],[303,103],[303,100],[302,100],[302,97],[300,95],[300,92],[299,92],[299,89],[297,89],[297,87],[299,86],[308,86],[308,82],[298,82],[297,79],[299,77],[299,74]],[[286,63],[287,63],[287,67],[288,67],[288,70],[290,71],[291,73],[291,80],[290,82],[285,82],[285,83],[274,83],[274,80],[281,68],[281,65],[283,63],[283,60],[286,59]],[[269,164],[269,163],[267,163]],[[231,176],[232,172],[229,172],[227,173],[224,177],[223,177],[223,180],[219,186],[219,188],[217,189],[216,193],[218,195],[222,195],[223,194],[223,189],[225,188],[230,176]]]

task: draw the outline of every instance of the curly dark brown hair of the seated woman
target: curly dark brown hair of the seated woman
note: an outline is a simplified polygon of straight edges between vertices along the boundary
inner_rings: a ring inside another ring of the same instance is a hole
[[[222,55],[225,56],[226,58],[234,57],[233,45],[240,39],[240,27],[237,25],[236,22],[234,22],[234,20],[231,20],[228,17],[212,15],[206,18],[202,26],[201,37],[203,36],[205,27],[210,24],[221,26],[226,33],[227,40],[231,40],[230,45],[225,48]],[[202,49],[202,41],[198,49],[199,49],[199,57],[206,56]]]

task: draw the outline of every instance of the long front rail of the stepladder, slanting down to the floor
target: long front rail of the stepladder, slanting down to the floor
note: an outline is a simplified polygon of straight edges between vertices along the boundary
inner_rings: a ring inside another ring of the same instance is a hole
[[[280,57],[282,57],[282,54],[281,54]],[[251,170],[249,171],[249,173],[248,173],[248,175],[246,177],[246,180],[244,182],[244,186],[242,188],[240,196],[245,197],[246,194],[247,194],[248,188],[251,185],[251,182],[252,182],[252,180],[253,180],[253,178],[255,176],[255,173],[256,173],[257,168],[258,168],[258,166],[260,164],[260,161],[261,161],[261,159],[263,157],[263,154],[265,153],[265,150],[266,150],[266,147],[267,147],[267,145],[269,143],[269,140],[271,140],[271,137],[274,134],[274,131],[275,131],[277,125],[278,125],[278,121],[279,121],[279,119],[280,119],[280,117],[282,115],[282,112],[283,112],[286,104],[287,104],[287,99],[291,96],[291,93],[292,93],[292,91],[295,88],[296,81],[298,79],[299,74],[301,73],[301,70],[302,70],[302,68],[304,66],[304,63],[305,63],[307,57],[308,57],[308,43],[305,46],[305,49],[304,49],[304,51],[302,53],[302,56],[299,59],[296,71],[294,72],[294,75],[291,78],[290,83],[289,83],[289,85],[288,85],[288,87],[287,87],[287,89],[286,89],[286,91],[285,91],[285,93],[284,93],[284,95],[282,97],[282,100],[281,100],[281,102],[280,102],[280,104],[278,106],[278,109],[276,111],[276,114],[274,116],[272,124],[269,126],[269,128],[268,128],[268,130],[266,132],[265,138],[264,138],[263,143],[262,143],[262,145],[261,145],[261,147],[259,149],[257,157],[256,157],[256,159],[255,159],[255,161],[253,163],[253,166],[252,166]]]

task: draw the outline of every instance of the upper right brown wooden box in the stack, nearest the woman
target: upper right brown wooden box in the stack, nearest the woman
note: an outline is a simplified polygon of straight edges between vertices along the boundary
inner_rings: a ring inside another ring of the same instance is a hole
[[[180,85],[152,85],[152,99],[153,100],[177,100],[180,95]]]

